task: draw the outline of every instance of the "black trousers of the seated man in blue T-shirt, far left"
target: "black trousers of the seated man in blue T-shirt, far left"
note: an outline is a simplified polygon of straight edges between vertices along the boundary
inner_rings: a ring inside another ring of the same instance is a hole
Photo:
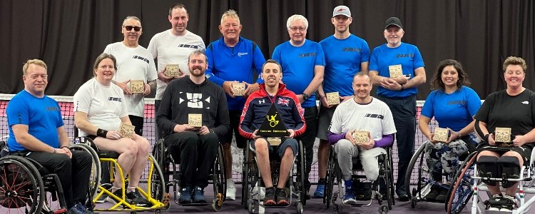
[[[85,151],[71,151],[73,157],[65,154],[29,152],[26,158],[31,158],[43,165],[50,173],[58,175],[63,188],[67,208],[74,203],[86,203],[89,176],[91,175],[91,155]]]

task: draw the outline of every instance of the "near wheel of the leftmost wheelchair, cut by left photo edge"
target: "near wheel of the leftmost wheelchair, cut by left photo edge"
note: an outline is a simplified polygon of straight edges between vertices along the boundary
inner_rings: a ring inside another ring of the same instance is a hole
[[[25,158],[0,158],[0,213],[41,213],[44,182]]]

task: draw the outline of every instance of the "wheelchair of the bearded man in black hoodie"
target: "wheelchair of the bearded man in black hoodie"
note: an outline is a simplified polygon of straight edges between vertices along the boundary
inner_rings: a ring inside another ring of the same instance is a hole
[[[166,195],[169,195],[169,188],[173,187],[175,203],[177,205],[183,206],[200,206],[200,205],[211,205],[213,210],[219,211],[223,206],[225,201],[226,191],[227,191],[227,180],[225,178],[225,159],[223,158],[223,146],[219,144],[218,155],[215,157],[213,163],[213,168],[210,169],[209,177],[212,180],[208,180],[208,183],[213,184],[213,193],[214,198],[211,203],[188,203],[182,204],[178,203],[178,194],[180,193],[180,178],[182,173],[180,173],[180,168],[177,165],[180,165],[180,157],[173,157],[168,151],[167,146],[165,146],[163,138],[158,140],[153,147],[153,154],[156,158],[156,161],[163,166],[163,174],[159,180],[163,180],[163,188]],[[170,175],[172,177],[170,178]],[[167,203],[164,210],[170,209],[170,203]]]

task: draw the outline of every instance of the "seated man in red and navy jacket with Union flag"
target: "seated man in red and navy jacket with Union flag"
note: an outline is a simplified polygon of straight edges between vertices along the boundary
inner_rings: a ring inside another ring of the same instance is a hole
[[[290,175],[294,157],[297,156],[297,140],[295,137],[305,132],[304,110],[295,93],[286,89],[282,79],[281,66],[277,61],[269,59],[262,66],[262,78],[265,83],[260,84],[260,90],[252,93],[245,101],[243,113],[240,118],[240,134],[248,139],[253,139],[250,145],[256,151],[258,169],[265,184],[264,205],[288,205],[285,191],[286,182]],[[280,118],[285,123],[290,136],[282,138],[276,148],[277,154],[282,158],[280,163],[280,175],[277,189],[273,187],[271,180],[270,156],[268,151],[273,151],[274,146],[267,143],[267,138],[257,136],[258,129],[262,125],[271,106],[275,105]]]

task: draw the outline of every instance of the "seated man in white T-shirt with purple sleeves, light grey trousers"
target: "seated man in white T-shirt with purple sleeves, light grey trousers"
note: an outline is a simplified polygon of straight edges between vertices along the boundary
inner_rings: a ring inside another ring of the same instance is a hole
[[[394,118],[387,104],[370,96],[370,76],[359,72],[353,77],[355,97],[340,103],[332,115],[329,142],[335,145],[338,165],[345,181],[345,204],[357,203],[352,182],[352,158],[360,156],[367,180],[377,180],[379,163],[377,156],[386,154],[384,148],[394,143]],[[367,143],[356,143],[352,134],[368,131]]]

